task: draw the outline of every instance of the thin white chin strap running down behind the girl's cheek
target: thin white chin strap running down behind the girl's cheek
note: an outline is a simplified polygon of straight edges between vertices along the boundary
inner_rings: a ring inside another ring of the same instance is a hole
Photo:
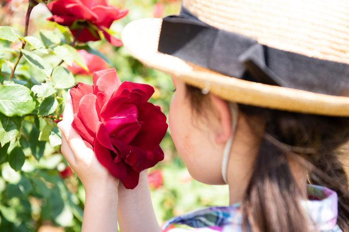
[[[227,181],[227,171],[228,171],[228,160],[229,160],[229,154],[231,151],[231,145],[232,141],[234,140],[235,131],[238,125],[238,113],[239,113],[239,107],[236,103],[229,103],[230,111],[231,111],[231,135],[226,141],[224,150],[223,150],[223,159],[222,159],[222,177],[225,184],[228,184]]]

